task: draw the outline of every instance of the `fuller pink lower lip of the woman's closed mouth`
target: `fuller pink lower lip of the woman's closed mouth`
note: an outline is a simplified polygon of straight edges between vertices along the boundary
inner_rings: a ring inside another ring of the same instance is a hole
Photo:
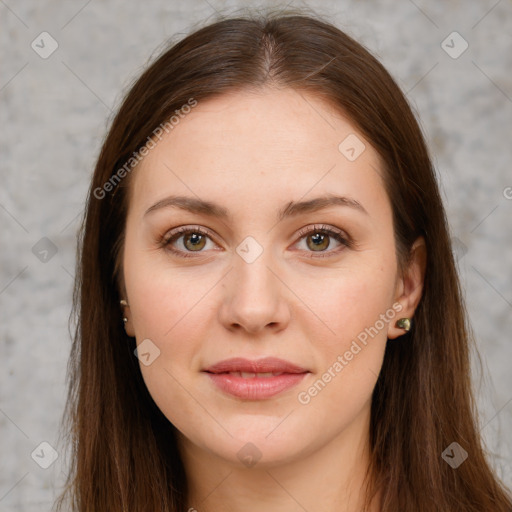
[[[208,373],[213,383],[225,393],[245,400],[270,398],[296,386],[306,373],[282,373],[275,377],[252,377],[244,379],[229,373]]]

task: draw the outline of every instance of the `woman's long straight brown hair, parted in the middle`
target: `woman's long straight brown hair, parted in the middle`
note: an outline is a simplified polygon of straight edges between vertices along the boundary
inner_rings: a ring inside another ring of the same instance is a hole
[[[153,402],[135,339],[121,321],[120,259],[130,176],[137,172],[126,162],[150,139],[157,143],[155,129],[191,99],[268,86],[310,92],[347,115],[384,162],[402,267],[418,236],[427,245],[413,329],[388,342],[373,393],[368,501],[379,491],[383,512],[510,512],[510,495],[478,432],[472,337],[421,129],[365,48],[319,16],[292,11],[219,18],[171,45],[131,87],[112,122],[78,239],[63,417],[72,467],[57,509],[66,500],[80,512],[186,509],[175,427]],[[469,454],[456,469],[442,457],[454,441]]]

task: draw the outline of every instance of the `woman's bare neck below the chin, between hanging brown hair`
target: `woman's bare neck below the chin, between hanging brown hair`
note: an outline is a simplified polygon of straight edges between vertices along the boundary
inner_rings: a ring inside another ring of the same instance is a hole
[[[369,464],[369,408],[319,449],[286,463],[251,468],[205,452],[179,436],[193,512],[362,512]],[[378,512],[375,500],[368,512]]]

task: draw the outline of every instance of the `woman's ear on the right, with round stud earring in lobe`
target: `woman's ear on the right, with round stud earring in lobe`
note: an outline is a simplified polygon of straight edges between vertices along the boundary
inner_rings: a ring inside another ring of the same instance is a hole
[[[418,237],[411,247],[410,260],[403,275],[399,276],[396,284],[395,302],[399,302],[402,310],[397,316],[400,318],[413,318],[416,307],[423,293],[425,280],[425,268],[427,265],[427,246],[425,239]],[[395,327],[395,322],[390,322],[388,338],[395,339],[404,334],[404,330]]]

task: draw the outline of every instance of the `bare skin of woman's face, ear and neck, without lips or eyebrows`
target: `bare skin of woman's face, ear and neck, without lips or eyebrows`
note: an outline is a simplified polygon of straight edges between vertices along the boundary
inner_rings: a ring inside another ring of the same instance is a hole
[[[366,147],[355,161],[338,149],[349,134]],[[134,172],[122,261],[125,328],[137,344],[150,339],[160,350],[140,368],[179,431],[189,507],[361,509],[371,394],[387,338],[405,332],[396,320],[414,315],[426,257],[418,239],[399,273],[382,173],[379,155],[346,117],[292,89],[200,102]],[[335,205],[278,221],[290,201],[327,193],[357,200],[366,213]],[[171,194],[213,201],[230,217],[176,207],[145,215]],[[348,233],[354,245],[328,236],[329,245],[316,248],[319,224]],[[192,257],[180,257],[159,243],[178,226],[201,226],[211,237],[194,252],[182,235],[172,246]],[[301,228],[312,232],[301,237]],[[263,249],[251,263],[236,252],[247,236]],[[393,304],[402,310],[300,403],[298,394]],[[201,372],[235,356],[280,357],[311,373],[269,399],[235,398]],[[237,455],[247,443],[261,455],[252,467]]]

